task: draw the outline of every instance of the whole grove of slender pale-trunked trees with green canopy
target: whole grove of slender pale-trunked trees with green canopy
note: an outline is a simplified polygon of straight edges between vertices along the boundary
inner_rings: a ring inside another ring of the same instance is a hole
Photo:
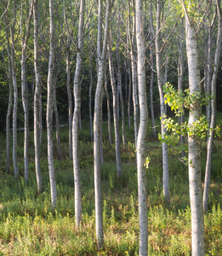
[[[60,125],[67,125],[66,158],[73,162],[75,225],[81,229],[79,132],[82,120],[87,120],[88,142],[94,145],[94,216],[100,251],[105,244],[103,121],[107,119],[108,123],[107,144],[115,144],[118,180],[123,172],[122,152],[128,144],[126,130],[133,127],[139,255],[147,255],[147,129],[151,119],[151,140],[157,140],[157,131],[160,132],[162,195],[167,206],[171,204],[168,147],[181,144],[181,161],[189,172],[191,252],[204,255],[204,214],[208,212],[213,137],[219,131],[216,114],[221,110],[217,106],[221,96],[221,90],[217,90],[221,35],[220,0],[2,0],[0,130],[5,132],[6,140],[5,172],[12,174],[13,170],[15,183],[20,176],[27,183],[30,163],[35,162],[37,195],[41,195],[40,153],[46,140],[51,204],[56,209],[54,159],[62,159]],[[17,157],[19,128],[24,128],[24,168],[20,168]],[[47,138],[42,136],[45,129]],[[32,130],[34,160],[29,158]],[[207,142],[203,185],[202,141]]]

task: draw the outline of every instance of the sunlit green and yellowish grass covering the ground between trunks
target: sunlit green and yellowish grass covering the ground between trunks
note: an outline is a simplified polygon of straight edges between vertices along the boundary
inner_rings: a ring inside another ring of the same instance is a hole
[[[62,160],[54,160],[58,201],[50,204],[46,133],[43,131],[42,194],[37,195],[33,132],[30,137],[30,179],[23,178],[23,133],[18,135],[20,178],[15,181],[5,173],[5,134],[0,134],[0,255],[138,255],[139,216],[134,129],[127,129],[127,148],[122,148],[122,177],[117,179],[114,145],[109,145],[104,123],[105,164],[102,166],[103,220],[105,244],[97,252],[94,223],[93,143],[88,124],[80,131],[81,182],[83,193],[83,226],[77,230],[74,221],[74,181],[72,162],[68,159],[68,131],[61,127]],[[149,125],[151,127],[151,125]],[[151,137],[151,129],[147,137]],[[205,254],[222,254],[222,140],[213,148],[212,183],[209,211],[205,215]],[[206,158],[202,145],[202,173]],[[54,142],[54,152],[56,143]],[[191,255],[191,209],[187,167],[179,160],[178,148],[169,148],[170,205],[162,195],[161,145],[155,139],[147,142],[151,158],[147,171],[147,207],[149,255]],[[203,178],[203,177],[202,177]]]

